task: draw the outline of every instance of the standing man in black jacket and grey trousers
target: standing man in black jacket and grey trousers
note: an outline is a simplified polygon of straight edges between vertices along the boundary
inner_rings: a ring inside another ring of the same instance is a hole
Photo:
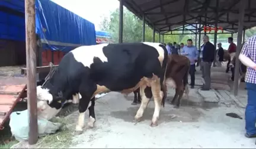
[[[215,46],[209,42],[208,35],[204,35],[203,43],[204,44],[201,46],[200,50],[200,59],[202,80],[204,85],[201,90],[210,90],[210,67],[212,66],[212,62],[215,58]]]

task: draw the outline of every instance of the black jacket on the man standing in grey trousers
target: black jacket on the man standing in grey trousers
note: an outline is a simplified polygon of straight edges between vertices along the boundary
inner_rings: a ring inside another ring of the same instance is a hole
[[[201,50],[201,47],[200,47]],[[207,62],[213,62],[214,57],[215,57],[215,46],[210,43],[209,41],[207,43],[205,43],[204,45],[204,49],[203,49],[203,61],[207,61]],[[200,51],[201,53],[202,51]]]

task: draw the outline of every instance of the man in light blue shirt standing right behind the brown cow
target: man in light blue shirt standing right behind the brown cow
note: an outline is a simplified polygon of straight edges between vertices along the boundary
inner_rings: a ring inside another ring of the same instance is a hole
[[[187,46],[183,47],[181,55],[186,56],[190,60],[190,86],[193,89],[195,82],[196,60],[197,57],[199,57],[199,51],[196,46],[193,46],[193,41],[191,39],[187,40]]]

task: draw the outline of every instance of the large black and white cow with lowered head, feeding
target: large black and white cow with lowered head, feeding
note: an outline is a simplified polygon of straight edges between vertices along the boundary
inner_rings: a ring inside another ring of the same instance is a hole
[[[89,125],[94,125],[95,95],[111,91],[129,94],[140,88],[142,103],[135,122],[140,121],[153,96],[155,112],[151,126],[156,126],[161,104],[164,106],[162,88],[167,59],[167,49],[161,43],[98,44],[75,48],[62,58],[45,85],[37,86],[37,108],[43,111],[43,105],[48,103],[58,111],[72,95],[77,100],[75,96],[80,94],[76,125],[76,134],[80,134],[88,107]]]

